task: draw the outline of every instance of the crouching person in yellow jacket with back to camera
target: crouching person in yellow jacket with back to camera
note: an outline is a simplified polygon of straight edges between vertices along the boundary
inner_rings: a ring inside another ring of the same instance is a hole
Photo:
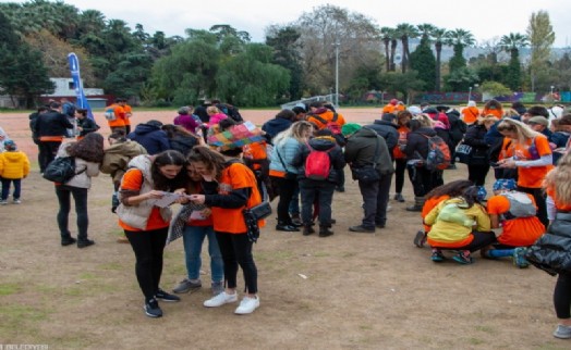
[[[427,241],[433,248],[434,262],[445,260],[442,250],[458,250],[453,260],[471,264],[471,252],[496,241],[489,216],[478,202],[476,186],[466,188],[462,196],[442,201],[426,215],[425,223],[432,226]]]

